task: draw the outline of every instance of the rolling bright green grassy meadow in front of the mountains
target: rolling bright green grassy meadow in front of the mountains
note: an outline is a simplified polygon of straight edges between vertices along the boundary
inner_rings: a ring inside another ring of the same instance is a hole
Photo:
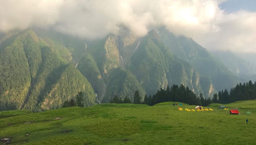
[[[195,105],[172,104],[101,104],[27,114],[10,111],[16,116],[0,119],[0,138],[12,138],[12,144],[38,145],[256,144],[255,100],[225,105],[240,107],[241,115],[229,115],[229,110],[216,107],[213,111],[179,111],[178,107],[185,110]],[[247,110],[252,114],[245,114]],[[72,131],[62,133],[66,130]]]

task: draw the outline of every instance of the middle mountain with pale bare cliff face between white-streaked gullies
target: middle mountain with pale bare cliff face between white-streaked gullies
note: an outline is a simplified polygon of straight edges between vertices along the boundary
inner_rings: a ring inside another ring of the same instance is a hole
[[[132,73],[123,69],[124,61],[127,62],[131,55],[125,52],[129,49],[124,48],[132,48],[130,45],[133,42],[113,34],[88,44],[87,54],[80,60],[77,69],[88,78],[99,101],[109,102],[114,95],[133,100],[136,90],[144,97],[144,88]],[[121,54],[120,49],[123,49]]]

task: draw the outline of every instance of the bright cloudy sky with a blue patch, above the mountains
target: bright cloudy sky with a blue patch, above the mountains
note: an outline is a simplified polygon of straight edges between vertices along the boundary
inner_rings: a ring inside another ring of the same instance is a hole
[[[0,0],[0,32],[30,27],[86,40],[165,27],[209,50],[256,52],[256,0]]]

